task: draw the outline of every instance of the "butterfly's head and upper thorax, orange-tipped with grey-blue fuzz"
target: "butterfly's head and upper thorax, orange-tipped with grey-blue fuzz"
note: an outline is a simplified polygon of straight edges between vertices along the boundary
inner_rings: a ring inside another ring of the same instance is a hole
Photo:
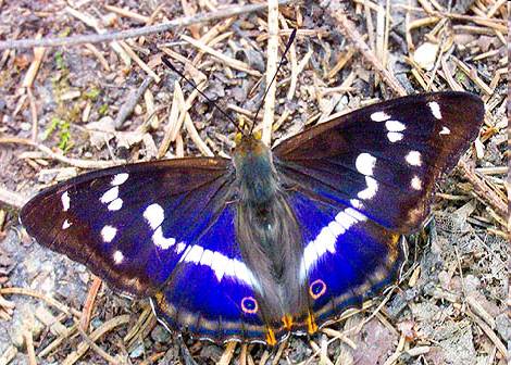
[[[233,162],[239,184],[240,200],[260,205],[278,191],[277,174],[271,150],[261,141],[261,135],[238,134],[235,138]]]

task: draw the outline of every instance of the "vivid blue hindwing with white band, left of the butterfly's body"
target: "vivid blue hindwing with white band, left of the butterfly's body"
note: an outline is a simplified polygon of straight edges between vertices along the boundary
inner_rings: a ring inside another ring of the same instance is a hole
[[[212,340],[264,339],[251,270],[236,243],[235,205],[187,246],[183,260],[152,299],[157,313],[175,329]]]

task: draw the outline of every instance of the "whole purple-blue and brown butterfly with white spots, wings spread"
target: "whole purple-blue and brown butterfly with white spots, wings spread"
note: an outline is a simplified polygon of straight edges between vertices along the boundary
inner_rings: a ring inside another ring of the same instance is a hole
[[[373,104],[232,159],[127,164],[57,184],[21,222],[119,292],[150,298],[171,330],[273,345],[314,333],[396,284],[402,235],[477,137],[464,92]]]

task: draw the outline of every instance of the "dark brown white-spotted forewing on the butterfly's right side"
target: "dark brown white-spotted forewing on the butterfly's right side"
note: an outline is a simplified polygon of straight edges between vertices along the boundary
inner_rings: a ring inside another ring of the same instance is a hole
[[[273,153],[298,184],[408,234],[429,213],[434,184],[477,136],[481,99],[419,95],[363,108],[288,139]]]

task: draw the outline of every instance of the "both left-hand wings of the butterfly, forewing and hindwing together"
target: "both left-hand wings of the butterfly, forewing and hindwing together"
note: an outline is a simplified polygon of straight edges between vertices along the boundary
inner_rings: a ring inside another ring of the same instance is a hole
[[[107,168],[42,191],[21,221],[117,291],[153,297],[170,327],[251,339],[263,329],[235,242],[233,181],[224,159]]]

